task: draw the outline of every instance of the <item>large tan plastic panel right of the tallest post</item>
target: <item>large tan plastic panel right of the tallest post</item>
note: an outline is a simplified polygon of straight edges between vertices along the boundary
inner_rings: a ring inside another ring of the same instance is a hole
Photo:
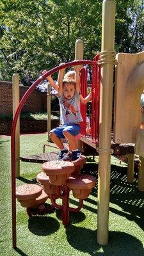
[[[144,52],[116,55],[114,141],[134,143],[141,124],[140,97],[144,89]]]

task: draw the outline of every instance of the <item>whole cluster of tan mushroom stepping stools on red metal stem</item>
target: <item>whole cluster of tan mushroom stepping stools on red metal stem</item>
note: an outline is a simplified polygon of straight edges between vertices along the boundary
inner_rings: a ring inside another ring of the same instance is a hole
[[[81,168],[86,163],[82,156],[77,163],[65,161],[49,161],[42,164],[42,171],[36,176],[38,184],[25,184],[17,187],[16,197],[23,207],[26,207],[29,217],[35,214],[46,214],[54,207],[62,211],[62,223],[68,225],[68,213],[78,212],[83,207],[83,200],[90,195],[95,178],[92,175],[81,175]],[[79,199],[77,208],[69,207],[69,193]],[[46,207],[45,201],[51,199],[53,207]],[[62,204],[56,204],[61,198]]]

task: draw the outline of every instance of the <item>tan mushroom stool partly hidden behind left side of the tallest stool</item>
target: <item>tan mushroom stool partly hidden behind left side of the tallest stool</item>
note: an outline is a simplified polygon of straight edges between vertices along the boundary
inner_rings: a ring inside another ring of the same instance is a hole
[[[47,176],[44,172],[38,173],[38,175],[36,175],[36,180],[42,184],[42,187],[47,195],[56,194],[56,186],[49,182],[49,176]]]

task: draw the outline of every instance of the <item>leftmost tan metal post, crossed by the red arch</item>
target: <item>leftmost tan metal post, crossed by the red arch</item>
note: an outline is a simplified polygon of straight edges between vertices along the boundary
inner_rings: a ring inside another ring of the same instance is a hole
[[[19,105],[19,75],[13,74],[13,117]],[[20,118],[15,129],[15,176],[20,176]]]

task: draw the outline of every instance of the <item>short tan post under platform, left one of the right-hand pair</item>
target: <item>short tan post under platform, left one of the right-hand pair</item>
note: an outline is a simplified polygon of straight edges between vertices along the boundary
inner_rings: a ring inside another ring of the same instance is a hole
[[[127,154],[127,182],[134,182],[134,154]]]

